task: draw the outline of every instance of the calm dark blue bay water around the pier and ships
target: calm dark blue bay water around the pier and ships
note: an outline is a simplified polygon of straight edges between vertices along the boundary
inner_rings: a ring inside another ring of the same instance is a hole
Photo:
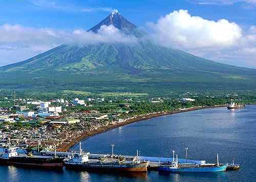
[[[109,174],[86,171],[48,171],[0,166],[0,181],[255,181],[256,178],[256,105],[245,109],[203,109],[140,121],[95,135],[82,142],[91,153],[115,153],[143,156],[172,156],[230,163],[232,157],[242,168],[218,173]],[[78,145],[72,150],[77,150]]]

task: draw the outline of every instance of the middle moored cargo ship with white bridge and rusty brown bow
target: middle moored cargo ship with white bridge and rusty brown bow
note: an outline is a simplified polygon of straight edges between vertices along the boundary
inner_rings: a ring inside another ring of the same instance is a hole
[[[121,172],[146,172],[148,161],[140,161],[138,154],[131,161],[126,161],[122,157],[102,157],[98,160],[89,160],[89,153],[83,152],[80,143],[80,152],[69,160],[65,161],[67,168],[100,170],[100,171],[121,171]]]

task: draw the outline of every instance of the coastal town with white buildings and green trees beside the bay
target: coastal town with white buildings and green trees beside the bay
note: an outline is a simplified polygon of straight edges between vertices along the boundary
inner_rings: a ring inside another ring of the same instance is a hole
[[[127,93],[128,94],[128,93]],[[0,146],[67,151],[93,134],[128,123],[207,107],[225,106],[230,98],[185,93],[170,97],[83,97],[38,100],[14,94],[1,98]],[[232,97],[238,95],[232,94]]]

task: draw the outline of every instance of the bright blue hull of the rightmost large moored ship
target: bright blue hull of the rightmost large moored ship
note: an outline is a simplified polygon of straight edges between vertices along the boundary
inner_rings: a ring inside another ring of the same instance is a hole
[[[159,167],[159,171],[166,172],[221,172],[226,171],[227,165],[220,167],[186,167],[186,168],[169,168],[169,167]]]

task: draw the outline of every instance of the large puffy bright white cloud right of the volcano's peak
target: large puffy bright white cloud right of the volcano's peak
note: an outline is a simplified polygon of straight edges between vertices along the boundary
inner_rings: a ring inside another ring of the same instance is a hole
[[[155,41],[178,49],[229,47],[242,37],[242,29],[234,22],[206,20],[187,10],[174,11],[149,26]]]

